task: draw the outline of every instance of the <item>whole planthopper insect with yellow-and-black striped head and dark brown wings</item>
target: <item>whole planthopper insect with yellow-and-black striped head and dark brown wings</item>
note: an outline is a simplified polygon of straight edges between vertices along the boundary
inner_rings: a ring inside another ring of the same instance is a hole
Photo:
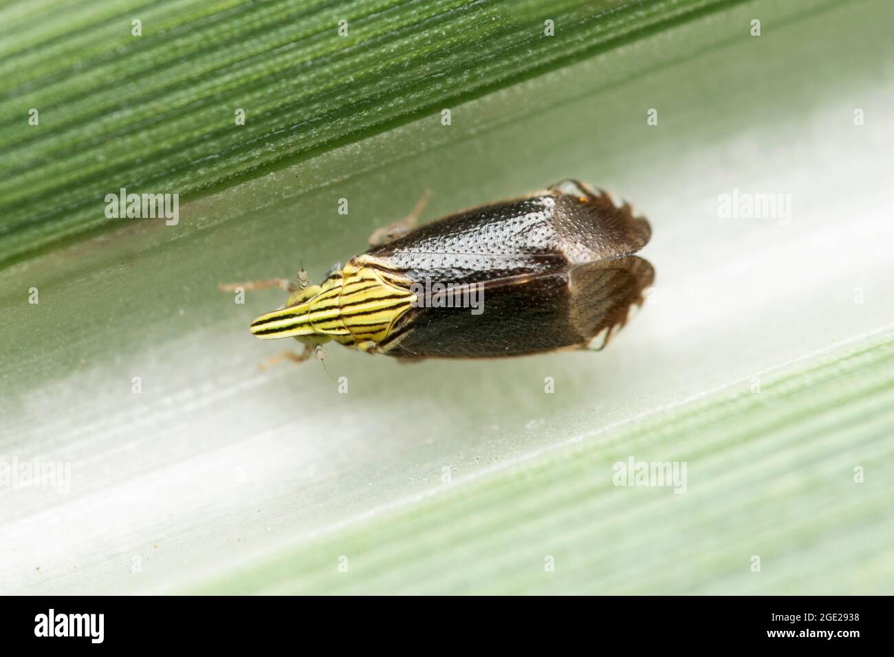
[[[604,333],[602,349],[653,282],[652,265],[633,255],[651,235],[645,218],[578,181],[411,229],[420,206],[320,285],[303,267],[297,285],[243,283],[291,291],[251,333],[301,341],[293,360],[320,356],[328,341],[397,358],[492,358],[583,349]],[[452,307],[422,294],[439,284],[455,291]],[[459,302],[469,288],[483,301],[477,312]]]

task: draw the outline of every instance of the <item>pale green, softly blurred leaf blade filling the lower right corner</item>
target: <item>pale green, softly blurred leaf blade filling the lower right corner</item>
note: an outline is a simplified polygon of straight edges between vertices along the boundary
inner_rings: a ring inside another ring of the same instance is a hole
[[[458,477],[191,591],[884,594],[892,425],[887,333]],[[661,463],[668,479],[633,486],[629,459]]]

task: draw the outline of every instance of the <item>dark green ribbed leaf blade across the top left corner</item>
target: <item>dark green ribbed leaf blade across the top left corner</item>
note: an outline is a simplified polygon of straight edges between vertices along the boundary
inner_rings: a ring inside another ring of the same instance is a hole
[[[110,227],[104,199],[121,188],[197,198],[724,4],[9,5],[0,13],[0,265]],[[559,38],[544,36],[547,19]]]

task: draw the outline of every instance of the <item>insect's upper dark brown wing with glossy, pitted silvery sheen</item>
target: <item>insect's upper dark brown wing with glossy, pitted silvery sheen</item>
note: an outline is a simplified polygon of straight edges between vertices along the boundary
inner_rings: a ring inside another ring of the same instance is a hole
[[[412,281],[487,283],[631,255],[650,235],[629,204],[566,180],[426,223],[358,260]]]

